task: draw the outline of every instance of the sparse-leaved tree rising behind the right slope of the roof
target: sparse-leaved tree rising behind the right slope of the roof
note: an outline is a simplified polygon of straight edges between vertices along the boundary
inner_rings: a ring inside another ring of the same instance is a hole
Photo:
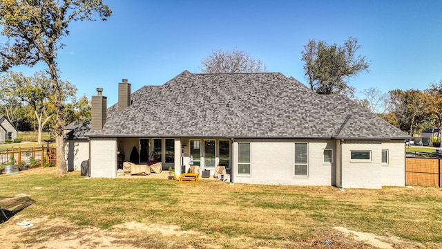
[[[352,95],[354,89],[346,80],[369,68],[365,57],[356,54],[359,48],[354,37],[349,37],[343,46],[310,39],[301,52],[310,89],[320,94]]]

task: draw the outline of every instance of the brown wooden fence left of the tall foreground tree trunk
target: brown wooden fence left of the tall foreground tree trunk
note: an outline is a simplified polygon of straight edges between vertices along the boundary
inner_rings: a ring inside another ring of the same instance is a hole
[[[26,163],[30,166],[57,166],[57,153],[55,147],[32,147],[32,148],[10,148],[0,149],[0,165],[10,161],[11,156],[21,165]]]

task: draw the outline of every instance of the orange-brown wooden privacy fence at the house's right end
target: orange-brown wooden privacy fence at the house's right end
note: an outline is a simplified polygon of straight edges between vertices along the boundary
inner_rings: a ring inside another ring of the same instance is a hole
[[[441,187],[442,159],[405,158],[405,184]]]

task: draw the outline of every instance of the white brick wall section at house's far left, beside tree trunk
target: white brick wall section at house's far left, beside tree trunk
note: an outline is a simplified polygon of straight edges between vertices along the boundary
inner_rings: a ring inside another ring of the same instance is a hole
[[[89,160],[89,141],[66,140],[65,154],[68,171],[81,170],[81,162]]]

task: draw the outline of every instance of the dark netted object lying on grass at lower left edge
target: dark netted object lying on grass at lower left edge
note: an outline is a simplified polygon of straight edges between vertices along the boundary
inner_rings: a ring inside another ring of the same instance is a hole
[[[34,203],[34,200],[23,195],[15,197],[0,197],[0,224]]]

